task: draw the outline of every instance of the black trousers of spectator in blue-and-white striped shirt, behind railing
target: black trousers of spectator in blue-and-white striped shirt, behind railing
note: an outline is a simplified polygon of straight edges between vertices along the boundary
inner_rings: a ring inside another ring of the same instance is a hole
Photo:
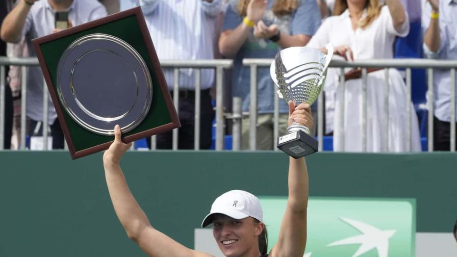
[[[173,96],[173,92],[170,92]],[[181,127],[178,130],[178,148],[194,148],[195,132],[195,92],[191,90],[180,91],[179,118]],[[210,89],[201,90],[200,94],[200,149],[209,149],[212,137],[212,122],[214,110],[211,105]],[[171,149],[172,131],[157,135],[157,149]],[[150,138],[147,146],[151,147]]]

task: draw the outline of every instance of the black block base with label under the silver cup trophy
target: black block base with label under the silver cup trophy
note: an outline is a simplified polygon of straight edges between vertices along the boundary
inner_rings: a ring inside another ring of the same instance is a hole
[[[298,159],[317,152],[318,142],[301,130],[277,138],[277,148]]]

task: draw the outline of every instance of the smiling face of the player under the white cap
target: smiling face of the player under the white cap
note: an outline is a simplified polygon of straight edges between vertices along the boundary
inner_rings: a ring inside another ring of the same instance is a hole
[[[215,214],[213,236],[222,253],[227,257],[259,256],[259,235],[263,223],[252,217],[234,219],[223,214]]]

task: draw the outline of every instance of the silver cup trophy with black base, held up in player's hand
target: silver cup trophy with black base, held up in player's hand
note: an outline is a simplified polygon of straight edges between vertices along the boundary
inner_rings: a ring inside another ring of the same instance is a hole
[[[327,44],[327,55],[310,47],[289,47],[277,53],[270,66],[270,75],[279,88],[277,94],[298,106],[316,101],[325,82],[328,64],[333,56],[333,45]],[[293,122],[286,135],[278,137],[277,147],[297,159],[317,151],[318,142],[310,136],[310,129]]]

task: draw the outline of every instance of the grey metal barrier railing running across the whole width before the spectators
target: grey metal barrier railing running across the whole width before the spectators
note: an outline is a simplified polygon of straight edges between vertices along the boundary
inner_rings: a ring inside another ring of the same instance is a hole
[[[249,120],[250,120],[250,129],[249,129],[249,149],[256,149],[256,124],[257,124],[257,70],[261,67],[269,67],[272,62],[272,59],[245,59],[243,64],[250,67],[250,110],[249,110]],[[20,149],[26,149],[26,102],[27,102],[27,68],[28,66],[37,66],[38,61],[36,58],[8,58],[0,57],[0,149],[3,149],[4,145],[4,131],[5,131],[5,65],[17,65],[22,66],[22,82],[21,82],[21,128],[20,128]],[[179,69],[180,68],[192,68],[196,69],[195,72],[195,144],[194,148],[199,149],[199,137],[200,137],[200,73],[201,69],[215,69],[215,85],[216,85],[216,150],[223,149],[224,142],[224,121],[225,118],[233,119],[233,149],[240,149],[241,142],[241,99],[234,99],[233,104],[233,113],[224,113],[223,108],[223,71],[232,67],[232,60],[164,60],[161,62],[163,68],[171,68],[174,70],[174,85],[173,85],[173,101],[176,107],[176,110],[179,110]],[[344,62],[333,60],[331,62],[331,67],[341,68],[343,71],[347,67],[362,67],[362,85],[363,85],[363,97],[362,97],[362,139],[366,139],[366,93],[367,93],[367,68],[376,67],[376,68],[385,68],[385,78],[386,78],[386,87],[385,87],[385,112],[389,112],[388,108],[388,78],[389,72],[387,68],[406,68],[406,80],[407,80],[407,102],[411,102],[411,69],[412,68],[425,68],[428,73],[428,151],[433,151],[433,69],[450,69],[451,72],[451,85],[455,85],[455,69],[457,68],[457,61],[454,60],[427,60],[427,59],[394,59],[394,60],[366,60],[366,61],[354,61],[354,62]],[[341,72],[340,86],[344,87],[344,72]],[[272,83],[272,86],[273,83]],[[451,87],[450,102],[451,102],[451,122],[450,122],[450,149],[455,151],[455,87]],[[47,90],[44,90],[43,107],[46,108],[47,105]],[[318,99],[318,117],[323,117],[324,107],[323,107],[323,94],[319,95]],[[339,108],[344,108],[340,106]],[[407,127],[408,134],[407,140],[411,144],[411,112],[410,105],[407,105]],[[47,110],[44,109],[44,110]],[[277,94],[274,94],[274,137],[273,145],[276,145],[276,138],[278,136],[278,120],[279,120],[279,98]],[[47,120],[47,112],[43,112],[43,120]],[[323,146],[323,119],[318,119],[318,141],[319,141],[319,150],[322,150]],[[386,122],[386,127],[388,123]],[[344,132],[344,127],[341,128]],[[385,133],[388,133],[388,130],[384,130]],[[172,149],[177,149],[177,129],[173,131],[173,142]],[[208,135],[211,136],[211,135]],[[43,145],[44,149],[47,144],[47,126],[43,126]],[[388,138],[388,137],[386,137]],[[365,141],[365,140],[363,140]],[[363,146],[366,147],[366,144]],[[151,140],[151,148],[156,148],[155,137]],[[274,147],[275,150],[276,147]],[[365,149],[365,148],[364,148]]]

